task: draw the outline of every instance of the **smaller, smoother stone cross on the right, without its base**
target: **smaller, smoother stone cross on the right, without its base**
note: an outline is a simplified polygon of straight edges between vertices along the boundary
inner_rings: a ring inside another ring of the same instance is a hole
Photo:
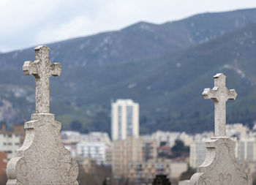
[[[214,88],[205,88],[203,97],[205,99],[214,100],[214,121],[215,136],[226,136],[226,102],[227,99],[236,99],[235,89],[228,90],[226,88],[226,76],[218,73],[214,76]]]

